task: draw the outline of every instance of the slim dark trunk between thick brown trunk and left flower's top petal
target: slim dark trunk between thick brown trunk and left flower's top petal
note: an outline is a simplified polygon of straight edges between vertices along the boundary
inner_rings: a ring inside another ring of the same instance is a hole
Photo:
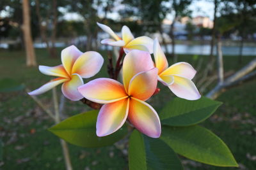
[[[51,35],[51,41],[52,41],[51,57],[57,57],[56,48],[55,48],[56,31],[57,31],[57,1],[56,0],[52,1],[52,15],[53,15],[53,20],[52,20],[53,27],[52,27],[52,35]]]

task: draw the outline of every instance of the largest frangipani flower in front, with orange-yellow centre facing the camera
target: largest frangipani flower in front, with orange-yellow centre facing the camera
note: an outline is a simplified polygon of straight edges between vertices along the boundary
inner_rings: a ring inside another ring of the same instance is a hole
[[[157,68],[150,53],[132,50],[124,58],[124,85],[110,78],[97,78],[78,91],[90,101],[104,104],[97,118],[97,136],[117,131],[129,120],[136,129],[152,138],[159,138],[159,117],[145,101],[154,94],[157,86]]]

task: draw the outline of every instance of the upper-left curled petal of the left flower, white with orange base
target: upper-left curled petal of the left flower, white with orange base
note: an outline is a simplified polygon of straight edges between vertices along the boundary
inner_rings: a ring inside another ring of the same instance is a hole
[[[49,76],[58,76],[63,78],[69,78],[67,71],[65,68],[61,65],[54,66],[54,67],[48,67],[48,66],[39,66],[39,71],[45,75]]]

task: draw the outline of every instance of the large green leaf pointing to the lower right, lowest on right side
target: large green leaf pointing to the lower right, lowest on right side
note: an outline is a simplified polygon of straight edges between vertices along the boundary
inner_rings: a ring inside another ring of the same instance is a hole
[[[189,159],[213,166],[238,166],[227,145],[204,127],[164,126],[161,139],[176,153]]]

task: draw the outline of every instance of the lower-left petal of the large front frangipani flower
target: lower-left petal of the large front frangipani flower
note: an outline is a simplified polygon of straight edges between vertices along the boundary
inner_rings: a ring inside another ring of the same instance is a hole
[[[129,111],[129,99],[104,104],[97,118],[97,136],[107,136],[124,125]]]

